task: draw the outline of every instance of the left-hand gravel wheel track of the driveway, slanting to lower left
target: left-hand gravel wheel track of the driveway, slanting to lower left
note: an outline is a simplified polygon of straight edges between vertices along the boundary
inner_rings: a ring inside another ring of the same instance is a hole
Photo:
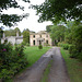
[[[40,82],[44,70],[51,59],[52,48],[40,57],[31,68],[14,79],[14,82]]]

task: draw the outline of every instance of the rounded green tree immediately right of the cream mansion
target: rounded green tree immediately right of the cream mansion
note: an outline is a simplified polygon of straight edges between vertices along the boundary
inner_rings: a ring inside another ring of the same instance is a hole
[[[66,27],[63,25],[54,25],[51,27],[50,36],[52,39],[63,42],[65,40],[65,32],[66,32]]]

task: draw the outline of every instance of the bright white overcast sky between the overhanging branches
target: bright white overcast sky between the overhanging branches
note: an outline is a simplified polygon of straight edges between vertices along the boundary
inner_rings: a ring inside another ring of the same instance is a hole
[[[25,11],[19,10],[19,9],[9,9],[8,11],[3,11],[3,13],[8,13],[8,14],[23,14],[23,13],[30,13],[30,16],[27,19],[23,19],[23,21],[17,23],[17,26],[11,27],[11,28],[15,28],[19,27],[21,30],[21,32],[24,28],[28,28],[30,31],[34,31],[34,32],[39,32],[39,31],[45,31],[47,25],[50,25],[51,22],[43,22],[43,23],[38,23],[38,15],[36,14],[36,11],[33,9],[28,9],[30,4],[40,4],[43,3],[45,0],[31,0],[31,3],[26,3],[26,2],[22,2],[21,0],[19,0],[19,3],[23,7],[25,7]],[[9,30],[9,27],[4,27],[4,30]]]

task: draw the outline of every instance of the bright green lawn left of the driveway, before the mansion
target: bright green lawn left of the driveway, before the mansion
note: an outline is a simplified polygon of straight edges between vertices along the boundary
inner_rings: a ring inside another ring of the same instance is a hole
[[[27,67],[35,63],[51,47],[43,47],[43,49],[38,49],[38,47],[25,47],[24,54],[28,61]]]

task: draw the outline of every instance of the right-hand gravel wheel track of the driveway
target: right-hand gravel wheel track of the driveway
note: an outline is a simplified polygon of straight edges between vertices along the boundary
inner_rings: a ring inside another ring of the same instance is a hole
[[[70,82],[59,47],[54,48],[52,65],[48,75],[48,82]]]

